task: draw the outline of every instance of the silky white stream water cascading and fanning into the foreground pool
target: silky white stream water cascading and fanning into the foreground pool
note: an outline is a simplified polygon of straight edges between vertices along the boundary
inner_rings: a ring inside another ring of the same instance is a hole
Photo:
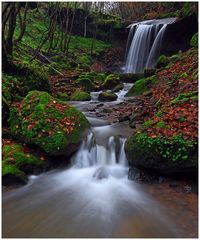
[[[26,186],[3,194],[3,237],[185,236],[148,186],[128,180],[130,130],[88,119],[91,130],[69,168],[30,176]]]

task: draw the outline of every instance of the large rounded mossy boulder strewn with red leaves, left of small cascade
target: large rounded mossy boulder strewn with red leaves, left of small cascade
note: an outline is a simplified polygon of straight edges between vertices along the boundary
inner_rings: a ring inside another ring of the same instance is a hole
[[[54,156],[76,151],[89,127],[75,107],[39,91],[29,92],[18,106],[13,106],[9,121],[13,134]]]

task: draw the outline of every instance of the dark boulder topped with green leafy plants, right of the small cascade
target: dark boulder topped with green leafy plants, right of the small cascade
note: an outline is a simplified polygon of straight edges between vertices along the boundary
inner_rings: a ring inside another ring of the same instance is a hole
[[[197,170],[197,143],[174,136],[171,139],[137,133],[125,144],[129,164],[160,174],[192,174]]]

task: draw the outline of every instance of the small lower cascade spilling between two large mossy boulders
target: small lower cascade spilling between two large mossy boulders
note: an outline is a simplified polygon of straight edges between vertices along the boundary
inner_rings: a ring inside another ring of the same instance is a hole
[[[110,136],[106,146],[96,143],[94,133],[89,133],[72,161],[77,168],[91,166],[127,165],[124,152],[126,139]]]

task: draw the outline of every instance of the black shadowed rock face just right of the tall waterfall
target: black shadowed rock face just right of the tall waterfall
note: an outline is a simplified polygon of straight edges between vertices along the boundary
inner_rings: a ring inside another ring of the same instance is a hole
[[[161,54],[172,55],[179,50],[186,51],[190,48],[190,40],[198,32],[198,21],[195,14],[185,17],[167,26]]]

